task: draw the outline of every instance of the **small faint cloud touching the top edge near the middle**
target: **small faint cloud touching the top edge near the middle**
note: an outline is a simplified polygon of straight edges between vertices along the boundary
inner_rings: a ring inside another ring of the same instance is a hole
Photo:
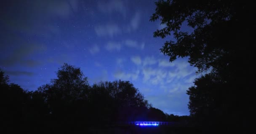
[[[98,9],[102,13],[121,13],[123,16],[126,14],[126,7],[123,0],[106,0],[98,3]]]

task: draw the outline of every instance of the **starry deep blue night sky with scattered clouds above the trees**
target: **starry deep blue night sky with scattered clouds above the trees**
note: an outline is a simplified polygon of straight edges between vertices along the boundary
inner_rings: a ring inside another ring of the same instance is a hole
[[[196,68],[160,53],[173,38],[153,37],[164,25],[150,22],[152,13],[155,0],[1,0],[0,68],[21,88],[37,90],[67,62],[91,85],[129,80],[153,107],[189,115],[186,90]]]

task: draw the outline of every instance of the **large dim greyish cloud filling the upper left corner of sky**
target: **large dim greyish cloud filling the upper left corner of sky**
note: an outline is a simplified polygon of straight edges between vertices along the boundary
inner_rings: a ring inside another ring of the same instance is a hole
[[[1,16],[4,27],[33,36],[46,36],[47,38],[51,38],[52,34],[59,32],[59,28],[51,23],[52,20],[55,18],[68,19],[77,12],[79,5],[78,0],[9,1],[3,5],[8,7],[5,14]]]

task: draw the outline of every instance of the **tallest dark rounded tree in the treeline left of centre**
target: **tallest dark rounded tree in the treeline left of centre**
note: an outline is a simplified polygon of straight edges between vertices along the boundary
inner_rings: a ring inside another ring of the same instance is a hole
[[[52,79],[50,84],[38,88],[50,108],[53,119],[65,123],[84,119],[89,88],[87,77],[79,67],[67,63],[59,68],[56,75],[57,79]]]

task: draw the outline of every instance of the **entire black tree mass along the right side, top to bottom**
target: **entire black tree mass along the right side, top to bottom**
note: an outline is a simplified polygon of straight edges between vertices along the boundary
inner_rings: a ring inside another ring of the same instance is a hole
[[[253,111],[248,102],[253,101],[250,89],[256,76],[252,64],[256,49],[251,45],[256,30],[250,17],[255,15],[253,6],[249,1],[235,0],[159,0],[150,19],[160,19],[166,25],[155,31],[154,37],[172,34],[175,39],[166,41],[160,49],[171,62],[189,57],[197,72],[211,71],[195,80],[187,93],[191,114],[200,121],[207,115],[204,120],[214,127],[243,128],[250,122],[244,115]],[[185,31],[181,25],[193,31]],[[201,124],[206,125],[204,121]]]

